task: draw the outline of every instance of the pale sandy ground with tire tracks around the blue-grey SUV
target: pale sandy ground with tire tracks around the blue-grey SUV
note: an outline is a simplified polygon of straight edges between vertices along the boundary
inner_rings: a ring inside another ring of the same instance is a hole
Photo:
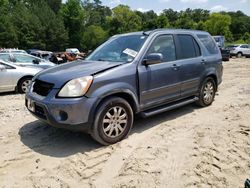
[[[250,59],[224,63],[212,106],[137,119],[103,147],[32,117],[24,96],[0,95],[0,187],[225,187],[250,178]]]

